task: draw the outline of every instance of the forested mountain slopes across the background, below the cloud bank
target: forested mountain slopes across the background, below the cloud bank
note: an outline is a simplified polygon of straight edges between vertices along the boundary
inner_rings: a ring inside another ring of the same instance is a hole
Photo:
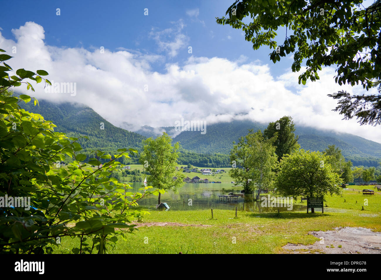
[[[174,127],[142,126],[139,132],[144,134],[143,136],[112,125],[93,109],[81,104],[54,104],[45,100],[40,100],[40,106],[33,106],[31,103],[21,104],[21,107],[43,115],[46,120],[51,120],[58,126],[57,131],[72,137],[88,136],[89,140],[80,140],[86,150],[102,149],[109,152],[120,148],[139,150],[141,141],[147,137],[155,138],[163,131],[169,135],[178,133]],[[104,123],[104,129],[101,129],[101,123]],[[249,129],[263,131],[266,127],[266,124],[249,120],[216,123],[207,126],[206,134],[201,134],[200,131],[182,131],[173,140],[181,144],[182,153],[179,157],[181,164],[226,167],[229,166],[228,154],[232,148],[232,142],[237,142],[241,136],[247,134]],[[328,145],[334,144],[354,165],[377,166],[381,158],[381,144],[353,134],[303,126],[296,126],[295,134],[299,135],[298,142],[303,149],[324,151]],[[126,163],[136,163],[136,161],[137,158],[134,158]]]

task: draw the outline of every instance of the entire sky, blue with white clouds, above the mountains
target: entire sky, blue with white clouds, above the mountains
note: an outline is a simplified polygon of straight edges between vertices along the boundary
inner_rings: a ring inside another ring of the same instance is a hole
[[[131,131],[143,125],[174,126],[182,118],[268,123],[290,115],[296,125],[381,141],[378,127],[359,126],[332,111],[336,101],[327,94],[362,93],[361,86],[335,84],[334,67],[323,67],[319,81],[299,85],[291,54],[274,64],[267,46],[254,51],[242,30],[216,24],[232,3],[23,2],[3,13],[0,48],[14,56],[9,60],[13,69],[44,69],[58,88],[75,85],[75,94],[47,93],[41,84],[33,94],[18,88],[22,93],[83,103]],[[279,29],[279,43],[284,36]]]

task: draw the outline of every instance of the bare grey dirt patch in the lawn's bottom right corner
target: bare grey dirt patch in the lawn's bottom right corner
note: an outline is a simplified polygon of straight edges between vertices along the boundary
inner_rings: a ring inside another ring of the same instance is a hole
[[[313,245],[288,243],[282,248],[294,254],[381,254],[381,232],[372,232],[363,227],[344,227],[335,230],[312,231],[309,234],[320,240]]]

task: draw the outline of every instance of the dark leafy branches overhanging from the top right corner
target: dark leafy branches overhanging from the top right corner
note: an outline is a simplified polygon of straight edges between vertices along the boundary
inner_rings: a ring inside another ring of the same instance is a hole
[[[293,72],[301,70],[305,61],[307,67],[299,75],[299,84],[319,80],[322,66],[336,65],[336,83],[361,83],[368,90],[381,80],[381,0],[366,8],[362,2],[237,0],[226,11],[229,17],[216,18],[216,22],[242,29],[254,50],[263,45],[273,48],[269,56],[274,63],[293,53]],[[248,24],[242,21],[246,16],[251,17]],[[285,28],[283,43],[274,40],[278,28]],[[381,123],[380,94],[364,95],[363,101],[354,103],[351,100],[358,101],[359,96],[345,92],[328,95],[341,99],[335,110],[345,118],[356,116],[360,124]],[[363,104],[370,105],[362,108]]]

